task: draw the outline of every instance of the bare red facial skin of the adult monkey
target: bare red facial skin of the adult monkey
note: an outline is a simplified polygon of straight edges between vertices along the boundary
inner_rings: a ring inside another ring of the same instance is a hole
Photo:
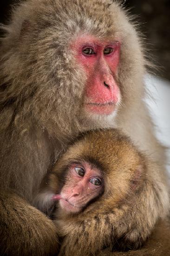
[[[86,35],[79,37],[71,47],[87,74],[85,109],[99,115],[111,114],[120,100],[120,91],[114,79],[119,63],[120,42],[100,41]],[[83,52],[88,48],[93,50],[93,54]],[[108,48],[112,49],[110,54],[105,53]]]

